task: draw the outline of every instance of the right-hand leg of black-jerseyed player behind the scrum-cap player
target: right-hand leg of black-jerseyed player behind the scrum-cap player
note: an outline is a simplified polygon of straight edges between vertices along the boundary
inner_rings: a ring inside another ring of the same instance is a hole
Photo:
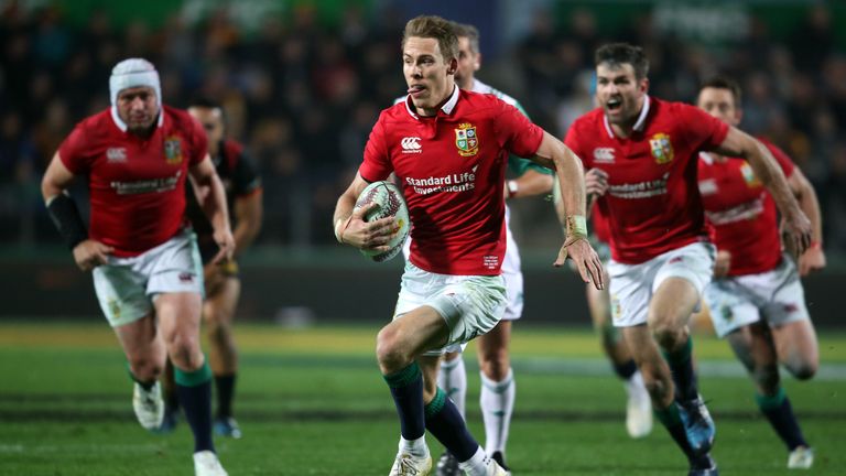
[[[225,436],[241,437],[241,430],[232,416],[232,399],[238,371],[238,350],[232,336],[232,321],[241,282],[236,277],[223,280],[214,295],[207,296],[203,304],[203,318],[208,335],[208,360],[215,379],[217,412],[215,433]]]

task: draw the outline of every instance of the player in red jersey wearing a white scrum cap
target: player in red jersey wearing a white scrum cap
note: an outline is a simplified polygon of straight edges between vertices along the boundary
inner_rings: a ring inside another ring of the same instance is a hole
[[[159,377],[170,357],[194,434],[198,476],[226,475],[212,441],[212,372],[199,348],[203,264],[185,221],[185,181],[198,197],[219,248],[231,258],[226,196],[206,151],[206,134],[187,112],[161,104],[159,73],[124,60],[109,80],[111,108],[79,122],[53,156],[42,193],[53,221],[83,271],[93,271],[106,318],[129,359],[132,405],[155,430],[164,403]],[[76,176],[90,190],[86,228],[67,188]]]

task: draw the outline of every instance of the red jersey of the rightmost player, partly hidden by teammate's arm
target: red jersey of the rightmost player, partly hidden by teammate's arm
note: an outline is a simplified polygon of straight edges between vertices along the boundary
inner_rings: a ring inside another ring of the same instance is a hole
[[[793,162],[779,148],[762,140],[784,172],[793,173]],[[712,238],[718,249],[731,253],[729,275],[761,273],[781,262],[776,201],[744,159],[725,162],[707,153],[699,155],[699,194]]]

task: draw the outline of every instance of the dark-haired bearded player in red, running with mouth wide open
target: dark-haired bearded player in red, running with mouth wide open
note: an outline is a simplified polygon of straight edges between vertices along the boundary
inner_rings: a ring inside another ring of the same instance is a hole
[[[758,141],[693,106],[647,94],[649,63],[640,47],[604,45],[595,64],[599,107],[574,122],[565,143],[604,177],[596,193],[610,230],[614,324],[622,327],[655,415],[687,456],[690,475],[716,475],[715,426],[698,393],[687,327],[715,253],[696,183],[698,151],[746,159],[800,252],[811,242],[811,223]]]

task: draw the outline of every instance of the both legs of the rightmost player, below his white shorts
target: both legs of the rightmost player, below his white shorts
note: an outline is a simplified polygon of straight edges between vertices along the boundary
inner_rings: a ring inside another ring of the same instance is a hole
[[[779,360],[800,379],[814,375],[818,354],[813,325],[810,321],[799,321],[770,329],[767,324],[758,322],[729,334],[727,340],[755,381],[756,401],[761,413],[788,447],[788,467],[811,467],[814,452],[805,441],[790,399],[781,386]]]

